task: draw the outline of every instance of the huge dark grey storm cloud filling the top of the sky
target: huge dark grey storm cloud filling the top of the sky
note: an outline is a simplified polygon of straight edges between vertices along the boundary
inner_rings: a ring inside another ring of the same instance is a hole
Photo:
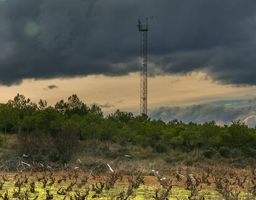
[[[255,85],[254,0],[1,1],[0,84],[139,71],[141,13],[154,16],[151,75],[202,70]]]

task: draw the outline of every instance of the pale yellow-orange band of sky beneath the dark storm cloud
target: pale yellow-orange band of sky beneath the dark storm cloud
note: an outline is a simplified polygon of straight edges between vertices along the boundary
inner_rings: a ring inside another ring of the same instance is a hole
[[[187,106],[221,99],[245,98],[246,94],[256,94],[255,86],[235,87],[213,82],[202,72],[190,75],[166,75],[148,78],[148,108],[160,106]],[[177,81],[178,80],[178,81]],[[58,85],[58,90],[43,90],[48,85]],[[0,86],[0,102],[12,99],[17,93],[24,94],[34,102],[40,98],[54,105],[60,99],[77,94],[86,104],[115,105],[103,108],[105,112],[116,109],[137,110],[140,106],[140,75],[131,73],[123,77],[90,75],[83,78],[24,80],[21,85]],[[116,103],[119,102],[119,103]]]

